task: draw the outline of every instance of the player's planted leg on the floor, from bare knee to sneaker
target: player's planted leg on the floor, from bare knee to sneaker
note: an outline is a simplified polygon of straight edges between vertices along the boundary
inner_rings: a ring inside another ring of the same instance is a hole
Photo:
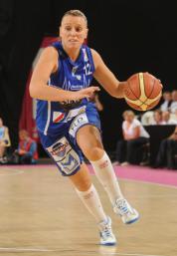
[[[106,216],[103,211],[97,191],[91,183],[87,165],[83,163],[80,170],[75,175],[71,175],[70,179],[72,180],[79,197],[98,224],[100,244],[114,245],[116,239],[111,231],[111,219]]]

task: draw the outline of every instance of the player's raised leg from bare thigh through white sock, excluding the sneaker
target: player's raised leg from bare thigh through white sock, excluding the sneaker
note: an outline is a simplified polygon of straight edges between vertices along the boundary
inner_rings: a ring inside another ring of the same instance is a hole
[[[93,126],[80,128],[77,141],[94,168],[95,175],[106,190],[111,203],[114,204],[117,198],[122,198],[122,194],[110,159],[103,149],[98,129]]]

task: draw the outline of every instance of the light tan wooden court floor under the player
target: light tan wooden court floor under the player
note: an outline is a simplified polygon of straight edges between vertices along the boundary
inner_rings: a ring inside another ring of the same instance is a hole
[[[141,218],[126,226],[92,176],[118,244],[98,245],[94,220],[55,166],[0,166],[0,255],[177,256],[177,189],[120,180]]]

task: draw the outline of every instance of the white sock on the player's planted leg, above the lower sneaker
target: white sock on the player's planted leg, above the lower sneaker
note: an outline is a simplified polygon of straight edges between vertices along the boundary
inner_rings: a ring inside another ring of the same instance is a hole
[[[91,184],[88,191],[79,191],[78,189],[76,190],[79,197],[89,209],[89,212],[93,215],[97,223],[107,219],[93,184]]]

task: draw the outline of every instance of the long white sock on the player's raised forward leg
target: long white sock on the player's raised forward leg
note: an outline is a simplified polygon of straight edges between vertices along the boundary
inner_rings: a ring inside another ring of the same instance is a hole
[[[97,179],[103,185],[112,205],[114,205],[115,200],[117,198],[123,198],[123,196],[108,155],[104,152],[99,160],[90,161],[90,163],[95,171]]]

